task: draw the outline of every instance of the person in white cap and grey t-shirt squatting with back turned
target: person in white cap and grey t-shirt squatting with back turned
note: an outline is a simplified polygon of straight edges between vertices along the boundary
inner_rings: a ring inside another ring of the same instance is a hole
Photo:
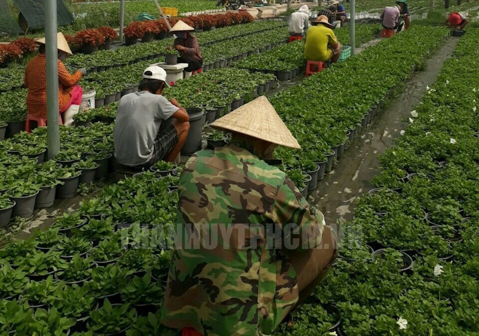
[[[141,171],[157,161],[175,161],[190,117],[176,99],[163,97],[167,85],[165,70],[153,65],[143,72],[140,90],[120,99],[113,133],[118,163]]]

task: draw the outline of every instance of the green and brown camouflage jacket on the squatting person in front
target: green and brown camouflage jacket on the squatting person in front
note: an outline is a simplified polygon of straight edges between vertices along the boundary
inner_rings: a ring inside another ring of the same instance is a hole
[[[193,155],[178,192],[162,323],[203,335],[271,334],[298,301],[285,240],[319,246],[323,214],[284,172],[235,144]],[[286,223],[295,229],[285,232]]]

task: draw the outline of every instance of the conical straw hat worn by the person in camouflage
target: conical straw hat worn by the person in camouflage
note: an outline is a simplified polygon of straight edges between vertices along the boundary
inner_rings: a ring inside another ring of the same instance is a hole
[[[211,126],[253,136],[276,145],[301,148],[265,96],[236,108]]]

